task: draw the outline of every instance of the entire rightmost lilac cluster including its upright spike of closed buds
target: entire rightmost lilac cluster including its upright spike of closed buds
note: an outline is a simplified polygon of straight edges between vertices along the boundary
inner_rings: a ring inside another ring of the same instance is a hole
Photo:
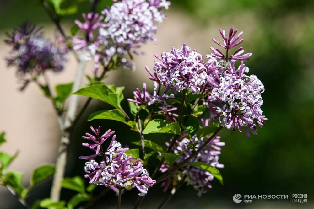
[[[215,39],[213,41],[225,48],[228,53],[229,49],[243,41],[243,39],[239,40],[243,32],[235,36],[237,31],[231,27],[229,38],[227,38],[225,31],[220,29],[224,45]],[[219,49],[214,50],[211,47],[211,50],[214,54],[206,56],[212,63],[211,68],[209,68],[211,74],[207,80],[211,90],[207,104],[208,107],[216,109],[217,114],[214,114],[214,118],[219,117],[219,122],[228,129],[232,127],[235,130],[238,127],[241,132],[243,126],[248,137],[250,137],[248,130],[257,134],[256,125],[263,126],[267,118],[261,109],[263,104],[261,94],[265,90],[263,83],[255,75],[247,76],[245,74],[249,72],[249,68],[245,66],[243,61],[252,56],[252,53],[241,55],[244,52],[241,46],[230,58],[226,58]],[[235,62],[237,60],[241,60],[241,64],[236,69]],[[211,102],[218,102],[220,107]]]

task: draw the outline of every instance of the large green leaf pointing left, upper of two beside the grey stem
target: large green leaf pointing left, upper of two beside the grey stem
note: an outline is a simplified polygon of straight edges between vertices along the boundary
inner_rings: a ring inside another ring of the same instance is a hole
[[[120,106],[118,104],[118,97],[116,93],[109,89],[106,85],[85,86],[78,89],[73,94],[99,99],[114,106],[115,108],[119,108]]]

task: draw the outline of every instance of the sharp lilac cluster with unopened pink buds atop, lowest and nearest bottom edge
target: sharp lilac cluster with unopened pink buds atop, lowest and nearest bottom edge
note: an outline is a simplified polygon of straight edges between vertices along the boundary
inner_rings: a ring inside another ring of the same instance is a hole
[[[95,151],[95,154],[90,156],[82,156],[80,159],[87,159],[85,163],[85,178],[89,178],[90,184],[105,185],[113,190],[132,189],[136,187],[140,196],[147,194],[149,186],[153,186],[156,181],[149,177],[143,163],[140,159],[133,162],[132,155],[127,156],[126,152],[129,148],[122,148],[117,142],[116,135],[113,135],[112,140],[106,150],[103,150],[102,144],[114,134],[115,131],[110,129],[100,136],[100,126],[97,129],[90,127],[95,136],[86,133],[84,139],[91,140],[94,144],[83,143],[83,146],[89,147]],[[95,157],[101,155],[102,161],[96,162]]]

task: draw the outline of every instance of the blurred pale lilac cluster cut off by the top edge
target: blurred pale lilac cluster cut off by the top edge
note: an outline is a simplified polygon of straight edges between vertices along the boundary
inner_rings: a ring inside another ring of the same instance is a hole
[[[102,14],[83,14],[84,23],[75,23],[86,34],[84,38],[73,37],[73,49],[83,51],[85,59],[108,65],[110,61],[133,68],[123,56],[129,52],[141,54],[137,49],[148,40],[156,42],[156,23],[165,18],[161,8],[168,9],[170,2],[165,0],[121,0]]]

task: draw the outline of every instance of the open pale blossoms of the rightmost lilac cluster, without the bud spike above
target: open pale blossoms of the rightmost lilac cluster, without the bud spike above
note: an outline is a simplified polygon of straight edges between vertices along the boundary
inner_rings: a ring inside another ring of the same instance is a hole
[[[233,130],[238,127],[240,132],[241,126],[244,126],[249,137],[248,129],[256,134],[256,124],[263,126],[267,118],[261,109],[264,85],[255,75],[246,76],[244,73],[248,71],[243,61],[236,69],[235,61],[232,60],[231,68],[228,67],[222,77],[209,82],[214,86],[211,101],[226,103],[223,108],[217,108],[222,126],[232,127]]]

